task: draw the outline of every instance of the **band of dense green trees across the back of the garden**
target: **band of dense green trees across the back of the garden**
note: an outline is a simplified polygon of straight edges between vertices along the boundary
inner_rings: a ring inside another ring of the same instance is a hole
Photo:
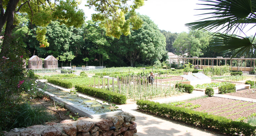
[[[126,20],[128,17],[129,14],[126,15]],[[131,34],[121,35],[119,39],[106,36],[106,29],[92,20],[78,28],[52,21],[46,27],[45,35],[49,46],[41,47],[36,30],[42,27],[31,25],[27,15],[20,13],[16,17],[17,27],[13,30],[13,36],[19,39],[19,46],[27,50],[27,59],[33,55],[40,58],[52,55],[59,60],[59,67],[86,64],[106,67],[153,66],[159,63],[165,65],[167,52],[184,57],[231,57],[235,52],[221,54],[212,51],[209,46],[212,36],[207,31],[166,32],[159,30],[148,16],[139,17],[143,20],[142,27],[138,30],[130,27]],[[248,57],[256,56],[249,54]]]

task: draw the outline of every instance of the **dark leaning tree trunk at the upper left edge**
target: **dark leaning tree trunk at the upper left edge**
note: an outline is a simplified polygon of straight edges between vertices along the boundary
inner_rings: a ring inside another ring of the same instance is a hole
[[[13,25],[14,22],[14,12],[15,12],[15,8],[17,7],[17,4],[20,0],[10,0],[7,4],[7,8],[5,11],[5,14],[3,15],[3,10],[2,10],[2,0],[0,3],[0,8],[1,8],[1,15],[0,15],[0,32],[2,32],[2,27],[6,22],[6,27],[5,27],[5,33],[4,33],[4,41],[3,41],[3,45],[2,45],[2,50],[0,52],[0,56],[2,58],[2,56],[6,56],[9,48],[10,48],[10,44],[8,44],[6,42],[6,39],[11,36],[12,34],[12,30],[14,27],[16,27],[16,25]]]

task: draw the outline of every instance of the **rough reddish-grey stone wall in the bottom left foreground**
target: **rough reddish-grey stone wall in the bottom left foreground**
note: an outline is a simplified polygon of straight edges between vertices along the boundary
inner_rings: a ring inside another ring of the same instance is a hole
[[[137,136],[136,117],[122,113],[102,119],[81,117],[77,121],[63,120],[27,128],[15,128],[6,136]]]

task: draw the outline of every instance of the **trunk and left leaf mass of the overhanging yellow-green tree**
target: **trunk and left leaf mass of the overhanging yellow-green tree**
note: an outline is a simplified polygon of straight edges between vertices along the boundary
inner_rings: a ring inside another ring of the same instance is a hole
[[[30,18],[31,24],[46,27],[51,20],[59,19],[68,26],[79,27],[83,24],[85,16],[82,10],[78,10],[75,0],[55,1],[48,0],[0,0],[0,33],[5,25],[4,41],[0,56],[8,53],[10,46],[5,42],[8,36],[11,36],[13,28],[16,27],[15,14],[18,12],[26,13]],[[40,46],[48,45],[44,34],[46,29],[37,30],[37,38],[40,40]]]

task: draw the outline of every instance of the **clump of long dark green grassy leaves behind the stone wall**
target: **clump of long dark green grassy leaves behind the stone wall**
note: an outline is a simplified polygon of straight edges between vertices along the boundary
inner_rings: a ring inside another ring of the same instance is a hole
[[[14,115],[12,128],[26,128],[28,126],[43,124],[54,117],[42,106],[32,107],[29,103],[23,103]]]

